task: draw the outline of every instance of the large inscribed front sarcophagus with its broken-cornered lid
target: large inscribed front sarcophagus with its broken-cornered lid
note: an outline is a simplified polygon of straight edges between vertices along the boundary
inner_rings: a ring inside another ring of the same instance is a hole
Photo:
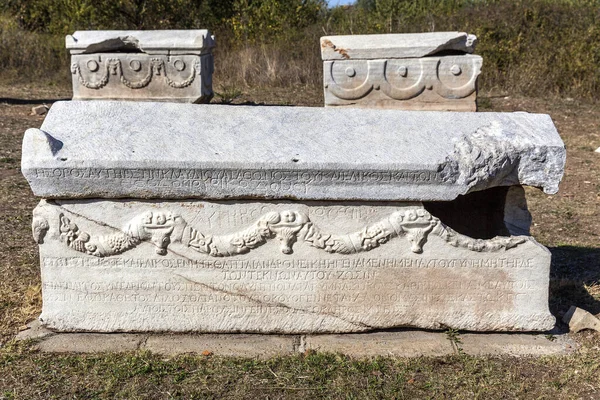
[[[118,134],[115,134],[117,133]],[[545,331],[550,117],[55,103],[26,132],[59,331]]]

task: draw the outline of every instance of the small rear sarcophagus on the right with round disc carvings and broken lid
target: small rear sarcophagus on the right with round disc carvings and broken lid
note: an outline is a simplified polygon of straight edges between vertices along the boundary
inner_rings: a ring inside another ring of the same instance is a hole
[[[476,111],[476,40],[464,32],[324,36],[325,106]]]

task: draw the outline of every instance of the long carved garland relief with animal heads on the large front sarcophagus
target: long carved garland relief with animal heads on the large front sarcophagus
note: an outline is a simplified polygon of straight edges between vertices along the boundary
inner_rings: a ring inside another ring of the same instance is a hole
[[[441,237],[451,246],[476,252],[507,250],[526,241],[518,236],[473,239],[445,226],[423,208],[398,210],[359,231],[347,234],[324,232],[305,213],[294,210],[269,212],[250,227],[227,235],[204,234],[189,226],[180,216],[160,211],[138,215],[123,231],[110,235],[82,232],[69,218],[60,214],[59,232],[61,241],[67,246],[96,257],[121,254],[142,242],[153,243],[159,255],[167,254],[171,242],[179,242],[202,254],[229,257],[248,253],[271,239],[280,242],[283,254],[292,254],[293,246],[298,241],[338,254],[367,252],[395,237],[406,238],[412,252],[422,253],[431,234]]]

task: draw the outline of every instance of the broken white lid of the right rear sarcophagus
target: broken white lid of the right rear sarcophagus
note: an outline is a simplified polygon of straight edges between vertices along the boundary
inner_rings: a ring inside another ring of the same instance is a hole
[[[340,35],[321,37],[321,58],[371,60],[419,58],[454,51],[472,53],[477,37],[465,32]]]

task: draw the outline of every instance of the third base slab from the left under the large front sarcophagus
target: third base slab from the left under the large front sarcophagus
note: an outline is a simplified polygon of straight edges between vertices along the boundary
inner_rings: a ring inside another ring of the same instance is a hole
[[[354,357],[441,357],[454,353],[443,333],[423,331],[311,335],[303,349],[343,353]]]

